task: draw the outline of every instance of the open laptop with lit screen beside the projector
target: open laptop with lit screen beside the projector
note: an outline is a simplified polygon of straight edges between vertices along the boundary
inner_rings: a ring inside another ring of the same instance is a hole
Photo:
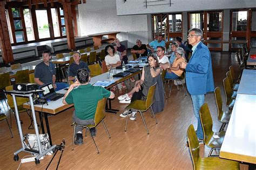
[[[57,101],[59,98],[62,98],[64,96],[64,94],[55,92],[52,83],[46,83],[40,86],[39,89],[44,90],[43,97],[45,98],[45,100]]]

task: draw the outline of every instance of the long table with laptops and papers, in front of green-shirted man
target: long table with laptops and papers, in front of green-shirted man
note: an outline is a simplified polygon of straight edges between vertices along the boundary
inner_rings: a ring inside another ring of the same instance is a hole
[[[123,72],[123,70],[122,69],[117,69],[117,73],[119,73],[119,72]],[[122,82],[126,79],[129,79],[132,76],[140,74],[141,72],[142,72],[142,70],[139,70],[136,73],[132,73],[130,75],[127,75],[126,77],[112,78],[112,79],[109,78],[109,72],[106,72],[106,73],[100,74],[98,76],[92,77],[90,83],[94,84],[97,81],[115,81],[113,84],[106,87],[106,88],[111,88],[114,85],[116,85],[116,84],[118,84],[118,83],[120,83],[120,82]],[[66,93],[66,90],[65,89],[59,90],[58,93],[63,93],[64,94],[64,93]],[[51,132],[50,132],[49,121],[48,121],[48,114],[57,115],[60,112],[66,110],[66,109],[69,109],[71,107],[73,107],[73,104],[63,104],[62,103],[62,98],[60,98],[57,101],[50,101],[50,102],[48,102],[48,105],[46,105],[46,104],[44,104],[44,105],[35,104],[34,105],[35,111],[38,111],[38,114],[39,114],[39,118],[40,118],[40,121],[41,121],[41,127],[42,127],[42,133],[45,133],[44,124],[43,124],[43,121],[42,121],[42,117],[44,115],[45,125],[46,125],[46,130],[47,130],[48,135],[49,135],[50,145],[52,145],[52,140],[51,140]],[[30,103],[24,103],[23,108],[30,109]],[[115,111],[114,109],[112,110],[112,108],[111,108],[111,100],[109,100],[109,104],[106,107],[106,111],[109,111],[109,112],[114,112]],[[116,111],[118,111],[118,110],[116,110]]]

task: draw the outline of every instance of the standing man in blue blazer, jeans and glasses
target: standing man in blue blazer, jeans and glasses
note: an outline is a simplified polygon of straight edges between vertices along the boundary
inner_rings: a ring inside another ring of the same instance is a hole
[[[214,91],[211,53],[201,42],[203,31],[193,28],[188,31],[188,43],[193,46],[188,63],[180,62],[180,68],[186,70],[187,90],[191,94],[194,115],[197,118],[197,137],[203,143],[204,134],[199,117],[199,109],[204,104],[205,94]]]

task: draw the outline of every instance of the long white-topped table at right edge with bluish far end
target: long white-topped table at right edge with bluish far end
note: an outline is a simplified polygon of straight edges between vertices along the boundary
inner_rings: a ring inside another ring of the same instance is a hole
[[[220,158],[256,164],[256,72],[244,70]]]

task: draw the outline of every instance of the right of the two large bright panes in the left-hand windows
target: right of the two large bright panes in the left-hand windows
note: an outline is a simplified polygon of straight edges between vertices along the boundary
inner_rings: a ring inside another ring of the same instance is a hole
[[[36,10],[39,39],[50,38],[47,10]]]

